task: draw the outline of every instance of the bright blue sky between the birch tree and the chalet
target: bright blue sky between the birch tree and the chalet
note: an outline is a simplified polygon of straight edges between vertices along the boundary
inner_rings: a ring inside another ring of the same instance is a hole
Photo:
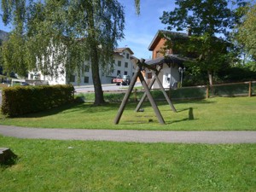
[[[172,0],[141,0],[141,14],[136,15],[134,0],[119,0],[125,6],[125,39],[119,42],[119,47],[129,47],[134,55],[140,59],[148,59],[152,55],[148,45],[159,29],[166,26],[161,24],[160,16],[164,10],[174,9]],[[0,29],[6,32],[10,26],[3,26],[0,20]]]

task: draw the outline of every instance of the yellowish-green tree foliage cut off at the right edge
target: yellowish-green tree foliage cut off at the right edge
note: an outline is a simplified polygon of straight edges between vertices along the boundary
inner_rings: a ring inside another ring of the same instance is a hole
[[[247,14],[242,18],[241,24],[237,27],[236,39],[248,55],[252,55],[256,61],[256,4],[247,9]]]

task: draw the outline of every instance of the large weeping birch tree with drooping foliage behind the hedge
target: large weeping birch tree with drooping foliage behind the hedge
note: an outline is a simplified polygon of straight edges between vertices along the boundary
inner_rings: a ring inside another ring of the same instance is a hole
[[[139,1],[136,1],[139,3]],[[2,1],[3,22],[14,31],[3,44],[5,70],[38,70],[79,77],[90,61],[95,104],[104,102],[99,68],[112,63],[117,40],[124,38],[124,10],[117,0]]]

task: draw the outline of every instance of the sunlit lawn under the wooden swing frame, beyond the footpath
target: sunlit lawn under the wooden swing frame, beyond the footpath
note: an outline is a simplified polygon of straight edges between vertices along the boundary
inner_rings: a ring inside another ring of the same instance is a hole
[[[143,105],[143,113],[135,113],[137,103],[129,102],[120,119],[113,125],[119,103],[94,107],[90,103],[70,104],[42,113],[17,118],[0,116],[2,125],[43,128],[126,129],[126,130],[256,130],[256,97],[215,97],[207,100],[176,101],[177,113],[166,102],[158,102],[166,125],[160,125],[151,105]],[[153,119],[153,122],[149,122]]]

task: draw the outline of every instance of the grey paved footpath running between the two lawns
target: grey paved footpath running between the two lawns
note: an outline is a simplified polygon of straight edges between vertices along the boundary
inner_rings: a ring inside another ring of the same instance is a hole
[[[0,134],[18,138],[137,143],[256,143],[256,131],[132,131],[42,129],[0,125]]]

